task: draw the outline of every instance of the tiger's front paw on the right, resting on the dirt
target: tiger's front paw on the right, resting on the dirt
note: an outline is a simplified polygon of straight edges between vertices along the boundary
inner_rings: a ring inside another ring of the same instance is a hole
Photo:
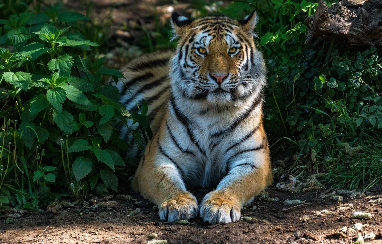
[[[240,206],[234,198],[213,191],[203,198],[200,216],[210,224],[231,223],[240,219]]]

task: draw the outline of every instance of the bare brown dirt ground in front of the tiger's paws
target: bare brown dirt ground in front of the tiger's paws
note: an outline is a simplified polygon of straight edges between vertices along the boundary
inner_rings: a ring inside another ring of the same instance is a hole
[[[200,203],[207,192],[193,194]],[[152,203],[137,193],[125,193],[133,199],[121,200],[129,197],[114,195],[62,209],[57,205],[44,212],[0,215],[0,243],[146,244],[152,237],[167,243],[354,243],[359,235],[373,234],[371,239],[375,240],[368,242],[382,243],[380,193],[335,202],[318,198],[325,190],[293,195],[271,187],[268,199],[278,198],[277,202],[257,198],[241,211],[238,222],[216,225],[204,223],[199,217],[187,224],[160,221]],[[287,199],[305,203],[283,203]],[[371,219],[351,218],[354,211],[371,213]],[[6,224],[7,216],[18,218]]]

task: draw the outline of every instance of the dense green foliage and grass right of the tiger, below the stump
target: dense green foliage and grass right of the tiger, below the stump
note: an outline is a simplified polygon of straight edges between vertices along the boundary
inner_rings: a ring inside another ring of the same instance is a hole
[[[272,151],[295,154],[296,175],[324,172],[327,181],[351,189],[375,184],[382,177],[382,154],[375,150],[382,128],[381,50],[339,39],[304,45],[303,23],[317,3],[271,2],[273,9],[258,6],[258,13],[259,47],[269,67],[266,131],[274,143],[284,136]],[[234,2],[230,9],[248,13],[252,7]]]

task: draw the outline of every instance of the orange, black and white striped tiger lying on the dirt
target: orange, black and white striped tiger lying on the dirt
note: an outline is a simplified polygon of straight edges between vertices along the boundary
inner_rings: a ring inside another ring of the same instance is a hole
[[[162,221],[200,216],[238,221],[241,209],[272,182],[262,104],[266,67],[256,48],[256,12],[171,17],[175,51],[142,55],[121,69],[120,101],[138,111],[146,101],[152,140],[141,154],[132,189],[155,203]],[[138,125],[121,129],[129,133]],[[139,150],[130,150],[139,157]],[[216,187],[198,205],[188,188]]]

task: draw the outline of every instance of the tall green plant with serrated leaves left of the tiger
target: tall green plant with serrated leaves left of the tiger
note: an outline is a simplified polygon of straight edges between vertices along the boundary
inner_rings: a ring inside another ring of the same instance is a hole
[[[151,136],[146,104],[130,114],[110,84],[123,75],[103,67],[104,58],[81,58],[98,46],[76,27],[88,20],[60,6],[0,20],[0,203],[37,207],[65,189],[106,195],[117,190],[115,171],[125,174],[128,145],[117,124],[139,122],[133,135],[141,147],[141,131]]]

